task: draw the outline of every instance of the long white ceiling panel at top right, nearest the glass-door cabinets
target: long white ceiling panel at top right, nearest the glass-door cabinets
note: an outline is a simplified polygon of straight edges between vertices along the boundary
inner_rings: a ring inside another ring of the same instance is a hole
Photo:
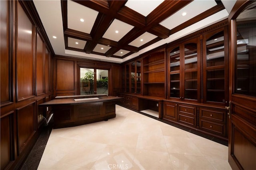
[[[194,18],[195,16],[201,14],[202,12],[216,6],[216,2],[214,0],[194,0],[172,16],[166,18],[166,20],[160,22],[160,24],[169,30],[172,28],[175,28],[176,26],[179,26],[183,22],[186,22],[190,20],[191,18]],[[182,13],[186,12],[187,14],[185,16],[182,16]]]

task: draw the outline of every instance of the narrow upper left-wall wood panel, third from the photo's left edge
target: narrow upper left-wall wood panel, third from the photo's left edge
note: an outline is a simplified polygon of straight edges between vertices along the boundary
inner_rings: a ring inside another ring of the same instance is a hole
[[[44,42],[36,34],[36,95],[44,93]]]

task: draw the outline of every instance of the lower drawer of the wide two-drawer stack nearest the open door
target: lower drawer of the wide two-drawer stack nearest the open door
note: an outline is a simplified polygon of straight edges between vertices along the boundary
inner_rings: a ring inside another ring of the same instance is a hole
[[[206,120],[201,120],[201,126],[200,128],[204,130],[210,130],[211,132],[217,133],[217,134],[222,134],[225,135],[225,126],[220,123],[214,123]]]

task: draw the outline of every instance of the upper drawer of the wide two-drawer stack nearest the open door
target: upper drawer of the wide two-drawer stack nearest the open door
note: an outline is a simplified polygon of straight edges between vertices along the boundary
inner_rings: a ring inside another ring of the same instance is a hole
[[[224,121],[224,111],[213,111],[207,108],[200,108],[200,115],[202,118],[212,119],[214,121]]]

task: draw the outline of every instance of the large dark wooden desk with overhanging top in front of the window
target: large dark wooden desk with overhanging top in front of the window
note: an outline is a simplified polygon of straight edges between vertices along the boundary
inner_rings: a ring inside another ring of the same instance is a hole
[[[51,106],[54,113],[54,128],[73,127],[106,121],[116,117],[116,103],[122,97],[107,95],[62,96],[40,104]]]

